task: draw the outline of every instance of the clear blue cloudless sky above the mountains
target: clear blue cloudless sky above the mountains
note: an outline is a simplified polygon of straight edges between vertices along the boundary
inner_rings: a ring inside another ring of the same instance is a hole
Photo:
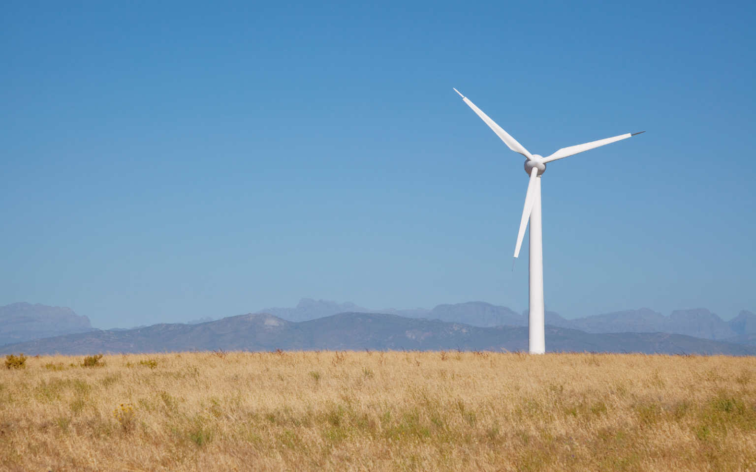
[[[0,305],[756,311],[754,2],[0,3]],[[527,241],[527,238],[525,239]]]

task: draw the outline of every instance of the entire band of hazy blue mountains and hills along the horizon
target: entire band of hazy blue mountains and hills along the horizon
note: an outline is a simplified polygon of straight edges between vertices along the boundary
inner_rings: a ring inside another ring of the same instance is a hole
[[[0,341],[13,343],[2,346],[0,350],[6,353],[446,349],[457,345],[464,349],[524,350],[528,338],[527,312],[516,313],[482,301],[443,304],[432,310],[370,310],[349,302],[303,298],[293,308],[269,308],[217,321],[206,317],[188,324],[160,323],[106,331],[92,328],[86,316],[66,307],[20,303],[0,307],[0,322],[4,336]],[[756,350],[751,353],[751,347],[744,346],[756,346],[756,316],[748,311],[729,322],[703,308],[677,310],[671,316],[641,308],[578,319],[547,312],[546,324],[552,351],[756,354]],[[371,328],[366,330],[365,326]]]

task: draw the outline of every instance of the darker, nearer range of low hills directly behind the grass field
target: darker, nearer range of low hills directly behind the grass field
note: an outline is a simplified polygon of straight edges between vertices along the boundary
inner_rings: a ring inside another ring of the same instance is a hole
[[[756,355],[756,347],[665,333],[590,334],[547,325],[547,349]],[[95,331],[0,347],[0,353],[150,353],[184,350],[527,350],[523,326],[481,328],[384,313],[340,313],[303,322],[270,314],[231,316],[198,325],[159,324]]]

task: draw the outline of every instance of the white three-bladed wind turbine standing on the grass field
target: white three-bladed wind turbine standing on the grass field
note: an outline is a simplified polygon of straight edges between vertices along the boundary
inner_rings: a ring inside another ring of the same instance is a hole
[[[460,94],[456,88],[454,91]],[[504,144],[516,153],[525,156],[525,172],[530,176],[528,182],[528,192],[525,193],[525,208],[522,209],[522,219],[520,219],[520,229],[517,233],[517,244],[515,245],[515,259],[519,256],[519,248],[522,245],[522,237],[525,236],[525,227],[530,220],[530,294],[529,294],[529,313],[528,313],[528,350],[531,354],[543,354],[546,352],[546,340],[544,338],[544,247],[541,240],[541,174],[546,171],[547,162],[556,161],[564,157],[573,156],[583,151],[591,150],[594,147],[600,147],[604,144],[614,143],[618,140],[627,139],[636,134],[645,133],[627,133],[620,136],[607,137],[577,146],[562,147],[551,156],[542,157],[538,154],[528,153],[522,144],[511,137],[507,131],[504,131],[494,120],[488,118],[475,103],[472,103],[463,94],[460,94],[465,103],[472,111],[478,114],[486,125],[494,130],[494,133],[503,140]],[[514,268],[514,261],[512,262]]]

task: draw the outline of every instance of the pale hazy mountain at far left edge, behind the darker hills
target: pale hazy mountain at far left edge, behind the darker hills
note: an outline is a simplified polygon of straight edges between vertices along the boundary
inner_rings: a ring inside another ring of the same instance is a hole
[[[86,316],[67,307],[28,303],[0,307],[0,344],[94,330]]]

